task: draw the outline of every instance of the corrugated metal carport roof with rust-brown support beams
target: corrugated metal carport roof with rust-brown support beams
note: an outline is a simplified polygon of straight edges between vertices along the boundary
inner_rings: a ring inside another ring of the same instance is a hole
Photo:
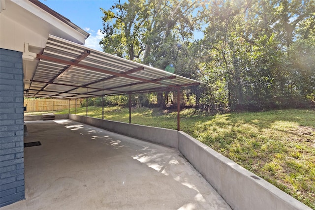
[[[200,82],[50,35],[29,89],[30,97],[75,99],[163,90]]]

